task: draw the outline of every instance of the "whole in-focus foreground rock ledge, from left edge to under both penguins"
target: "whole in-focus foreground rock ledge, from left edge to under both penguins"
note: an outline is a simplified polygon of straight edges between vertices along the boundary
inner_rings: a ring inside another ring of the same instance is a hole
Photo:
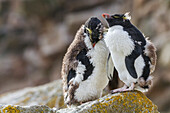
[[[55,81],[56,82],[56,81]],[[54,84],[54,83],[53,83]],[[36,99],[36,98],[34,98]],[[5,112],[57,112],[57,113],[92,113],[92,112],[151,112],[158,113],[158,108],[143,93],[139,91],[108,94],[98,100],[84,103],[78,107],[57,110],[47,106],[14,106],[1,105],[0,113]]]

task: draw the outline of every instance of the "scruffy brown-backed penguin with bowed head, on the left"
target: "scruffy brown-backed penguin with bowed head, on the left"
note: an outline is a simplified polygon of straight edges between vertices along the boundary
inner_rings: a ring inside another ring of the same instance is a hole
[[[106,72],[108,54],[103,24],[98,18],[91,17],[78,30],[63,59],[61,75],[68,107],[102,95],[109,81]]]

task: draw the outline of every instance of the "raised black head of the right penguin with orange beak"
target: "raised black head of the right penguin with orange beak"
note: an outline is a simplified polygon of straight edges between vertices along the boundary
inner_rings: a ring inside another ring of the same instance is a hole
[[[126,27],[128,25],[131,25],[129,16],[129,12],[125,14],[114,14],[109,15],[107,13],[102,14],[102,16],[106,19],[108,26],[112,27],[114,25],[121,25],[123,27]]]

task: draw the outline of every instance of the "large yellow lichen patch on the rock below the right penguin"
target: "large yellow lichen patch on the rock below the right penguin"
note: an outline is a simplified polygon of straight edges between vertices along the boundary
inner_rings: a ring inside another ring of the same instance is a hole
[[[104,113],[107,109],[117,112],[153,112],[153,110],[157,111],[157,106],[152,104],[143,93],[134,91],[107,97],[103,102],[92,105],[90,112]]]

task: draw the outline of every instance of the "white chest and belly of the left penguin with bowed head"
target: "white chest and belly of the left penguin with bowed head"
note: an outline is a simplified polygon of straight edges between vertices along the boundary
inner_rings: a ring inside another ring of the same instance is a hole
[[[88,41],[88,40],[86,40]],[[90,42],[91,43],[91,42]],[[91,46],[89,44],[89,47]],[[91,57],[90,62],[94,65],[92,75],[87,80],[80,83],[75,92],[77,100],[88,100],[91,97],[100,97],[103,89],[108,84],[106,73],[107,54],[109,53],[103,41],[98,42],[87,55]]]

